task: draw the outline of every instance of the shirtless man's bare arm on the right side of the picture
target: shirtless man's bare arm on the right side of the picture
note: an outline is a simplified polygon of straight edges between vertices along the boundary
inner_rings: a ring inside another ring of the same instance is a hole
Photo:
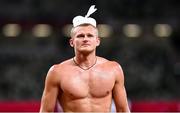
[[[126,89],[124,86],[124,74],[122,68],[116,63],[115,66],[116,82],[113,88],[113,98],[117,112],[130,112]]]

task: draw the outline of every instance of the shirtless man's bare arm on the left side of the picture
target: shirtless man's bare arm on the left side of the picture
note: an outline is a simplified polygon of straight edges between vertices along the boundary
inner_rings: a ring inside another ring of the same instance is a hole
[[[41,99],[40,112],[54,111],[56,105],[56,99],[59,91],[57,77],[58,76],[57,76],[56,68],[53,66],[50,68],[46,76],[45,88]]]

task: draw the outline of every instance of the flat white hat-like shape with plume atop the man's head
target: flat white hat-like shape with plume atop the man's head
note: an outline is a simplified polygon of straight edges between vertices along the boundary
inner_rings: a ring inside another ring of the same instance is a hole
[[[92,5],[88,13],[86,14],[85,17],[83,16],[76,16],[73,18],[73,27],[77,27],[82,24],[91,24],[94,27],[96,27],[96,20],[94,18],[89,17],[92,13],[94,13],[97,9],[95,8],[95,5]]]

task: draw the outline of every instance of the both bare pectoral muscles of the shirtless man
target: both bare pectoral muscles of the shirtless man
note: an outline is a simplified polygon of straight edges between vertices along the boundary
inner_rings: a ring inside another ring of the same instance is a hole
[[[63,93],[73,98],[105,97],[115,83],[112,72],[101,70],[67,73],[61,81]]]

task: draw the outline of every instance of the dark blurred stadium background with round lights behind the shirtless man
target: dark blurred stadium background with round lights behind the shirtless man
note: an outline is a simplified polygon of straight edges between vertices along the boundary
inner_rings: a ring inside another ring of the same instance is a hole
[[[74,56],[73,17],[93,4],[97,54],[121,64],[131,111],[180,111],[178,0],[0,0],[0,111],[38,111],[47,71]]]

